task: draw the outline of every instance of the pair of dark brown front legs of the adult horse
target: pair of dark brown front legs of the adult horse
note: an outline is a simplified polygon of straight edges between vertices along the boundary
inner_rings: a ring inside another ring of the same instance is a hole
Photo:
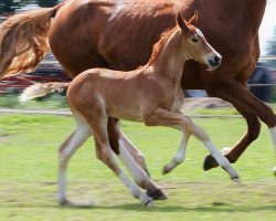
[[[229,78],[223,83],[213,85],[208,93],[212,96],[223,98],[231,104],[245,117],[247,123],[247,133],[225,157],[230,162],[235,162],[247,146],[254,141],[261,129],[258,118],[264,122],[270,131],[273,141],[276,140],[276,115],[269,106],[256,98],[244,85],[240,82]],[[274,141],[276,152],[276,143]],[[209,170],[217,166],[213,157],[208,156],[204,162],[204,169]]]

